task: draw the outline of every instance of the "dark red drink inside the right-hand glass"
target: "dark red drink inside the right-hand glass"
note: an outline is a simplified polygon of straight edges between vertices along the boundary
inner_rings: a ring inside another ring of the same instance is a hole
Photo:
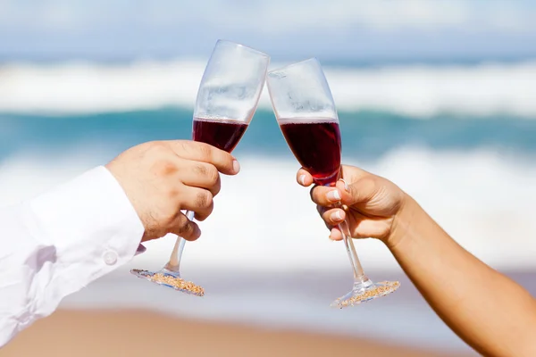
[[[317,185],[338,179],[340,129],[336,120],[280,120],[281,131],[292,153]]]

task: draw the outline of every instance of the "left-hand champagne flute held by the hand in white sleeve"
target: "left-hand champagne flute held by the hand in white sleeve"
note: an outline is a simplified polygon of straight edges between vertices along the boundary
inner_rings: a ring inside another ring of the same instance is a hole
[[[218,40],[197,91],[192,137],[230,153],[246,132],[263,91],[270,57],[253,48]],[[186,212],[194,220],[195,212]],[[159,271],[130,270],[138,278],[191,294],[199,286],[180,278],[180,258],[186,240],[177,237],[170,261]],[[155,278],[155,274],[157,278]]]

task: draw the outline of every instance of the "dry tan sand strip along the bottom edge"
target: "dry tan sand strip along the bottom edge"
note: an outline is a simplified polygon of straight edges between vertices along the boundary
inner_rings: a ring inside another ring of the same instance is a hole
[[[145,357],[168,353],[259,357],[462,355],[433,353],[360,338],[176,319],[140,310],[57,311],[23,331],[0,351],[3,357]]]

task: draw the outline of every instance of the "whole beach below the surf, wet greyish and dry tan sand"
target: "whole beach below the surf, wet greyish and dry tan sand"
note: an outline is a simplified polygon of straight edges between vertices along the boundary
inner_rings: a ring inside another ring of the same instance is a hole
[[[326,305],[333,291],[346,286],[341,273],[270,278],[259,272],[196,270],[193,275],[208,287],[203,298],[178,295],[121,269],[65,299],[59,311],[38,320],[0,350],[0,357],[146,357],[171,352],[185,356],[478,355],[402,276],[391,275],[402,283],[396,295],[333,310]],[[534,272],[507,275],[532,294],[536,291]],[[318,279],[325,281],[323,288],[317,286]]]

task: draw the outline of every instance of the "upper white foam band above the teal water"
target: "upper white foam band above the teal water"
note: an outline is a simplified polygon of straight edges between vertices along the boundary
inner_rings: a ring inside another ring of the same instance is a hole
[[[272,68],[281,64],[274,63]],[[0,112],[95,113],[192,108],[205,61],[0,66]],[[536,62],[326,67],[339,112],[536,118]],[[271,108],[264,90],[260,107]]]

